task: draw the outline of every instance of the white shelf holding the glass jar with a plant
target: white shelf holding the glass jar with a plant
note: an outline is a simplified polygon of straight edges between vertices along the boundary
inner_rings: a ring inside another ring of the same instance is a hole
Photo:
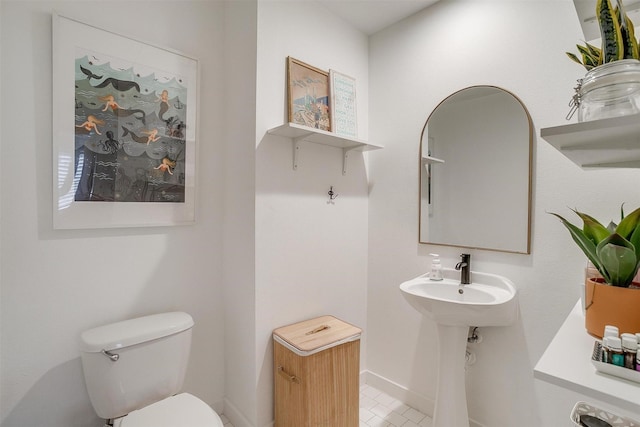
[[[640,168],[640,115],[543,128],[540,136],[582,168]]]

